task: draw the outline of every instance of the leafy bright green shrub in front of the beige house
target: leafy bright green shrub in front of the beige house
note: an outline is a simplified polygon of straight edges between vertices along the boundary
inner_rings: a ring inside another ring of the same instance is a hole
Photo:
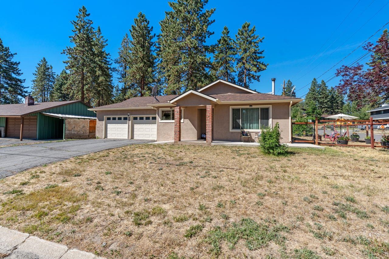
[[[278,122],[273,128],[263,129],[259,138],[260,149],[265,154],[282,156],[287,153],[287,145],[280,143],[281,133]]]

